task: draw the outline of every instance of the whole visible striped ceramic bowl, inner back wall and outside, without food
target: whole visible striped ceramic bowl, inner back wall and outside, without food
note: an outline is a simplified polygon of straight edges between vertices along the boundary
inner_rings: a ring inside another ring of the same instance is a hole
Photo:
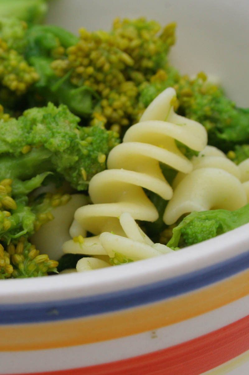
[[[48,22],[108,29],[117,16],[177,21],[172,63],[249,104],[247,1],[54,0]],[[249,373],[249,225],[160,261],[1,286],[1,375]]]

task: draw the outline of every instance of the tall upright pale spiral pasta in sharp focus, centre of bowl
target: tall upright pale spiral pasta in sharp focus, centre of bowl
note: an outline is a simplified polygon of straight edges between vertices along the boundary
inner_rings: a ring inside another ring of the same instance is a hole
[[[175,114],[175,98],[172,88],[157,96],[140,122],[127,130],[123,143],[110,152],[108,169],[96,174],[89,184],[93,205],[79,208],[74,216],[73,228],[80,225],[96,236],[85,239],[83,244],[73,240],[66,242],[65,252],[107,254],[108,246],[101,243],[107,236],[99,237],[99,234],[113,231],[126,241],[127,234],[119,220],[122,213],[129,213],[135,220],[155,221],[157,210],[143,188],[166,200],[173,195],[159,162],[183,173],[191,172],[193,164],[177,148],[175,140],[202,151],[207,144],[207,133],[196,121]],[[76,236],[76,231],[71,234]]]

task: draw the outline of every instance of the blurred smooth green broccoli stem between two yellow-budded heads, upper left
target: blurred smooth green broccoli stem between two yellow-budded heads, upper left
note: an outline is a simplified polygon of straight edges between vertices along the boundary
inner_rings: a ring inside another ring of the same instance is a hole
[[[25,58],[40,77],[34,93],[30,93],[30,106],[51,101],[56,105],[66,104],[76,115],[92,113],[96,93],[86,86],[74,86],[70,82],[71,71],[61,78],[52,69],[52,63],[64,58],[65,49],[75,45],[79,38],[58,26],[36,25],[27,30],[26,39]]]

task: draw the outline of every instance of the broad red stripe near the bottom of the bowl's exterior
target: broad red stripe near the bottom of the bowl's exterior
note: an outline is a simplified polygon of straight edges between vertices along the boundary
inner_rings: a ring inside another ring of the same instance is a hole
[[[249,315],[207,335],[154,353],[103,365],[22,375],[200,375],[247,350]]]

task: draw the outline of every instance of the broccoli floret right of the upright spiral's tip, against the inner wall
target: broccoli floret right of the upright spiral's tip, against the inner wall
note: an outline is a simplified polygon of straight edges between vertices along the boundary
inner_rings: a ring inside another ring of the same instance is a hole
[[[182,78],[178,100],[179,111],[205,126],[210,145],[228,151],[249,140],[249,109],[237,108],[220,87],[206,82],[204,74],[195,80]]]

